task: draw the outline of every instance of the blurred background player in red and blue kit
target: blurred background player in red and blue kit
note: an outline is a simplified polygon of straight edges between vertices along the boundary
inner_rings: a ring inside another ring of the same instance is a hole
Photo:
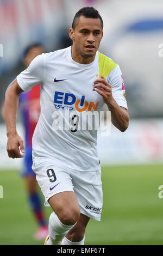
[[[42,54],[43,47],[40,44],[30,45],[23,54],[23,64],[28,67],[30,62]],[[12,81],[15,77],[12,79]],[[34,234],[34,239],[45,239],[48,234],[48,227],[43,214],[40,193],[37,187],[36,175],[32,170],[32,137],[35,126],[40,116],[40,84],[35,86],[30,92],[24,92],[20,95],[20,112],[25,131],[26,154],[23,159],[23,168],[21,175],[24,178],[30,209],[32,210],[39,228]],[[2,106],[2,115],[4,113],[4,103]]]

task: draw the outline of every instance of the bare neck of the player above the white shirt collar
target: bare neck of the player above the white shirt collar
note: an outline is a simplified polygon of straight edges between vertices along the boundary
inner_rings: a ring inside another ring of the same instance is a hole
[[[92,57],[84,57],[82,56],[76,49],[76,47],[71,47],[71,57],[74,60],[74,62],[80,63],[80,64],[90,64],[95,60],[96,54]]]

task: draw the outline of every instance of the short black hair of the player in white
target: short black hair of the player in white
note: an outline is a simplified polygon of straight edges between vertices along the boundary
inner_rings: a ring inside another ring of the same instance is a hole
[[[93,7],[83,7],[82,9],[80,9],[76,15],[74,16],[73,18],[73,22],[72,22],[72,28],[73,30],[75,29],[75,23],[77,21],[77,19],[79,19],[80,16],[84,16],[86,18],[92,18],[92,19],[100,19],[101,20],[101,25],[102,25],[102,28],[104,26],[103,24],[103,20],[102,20],[102,17],[101,15],[98,13],[98,10],[96,10],[95,8]]]

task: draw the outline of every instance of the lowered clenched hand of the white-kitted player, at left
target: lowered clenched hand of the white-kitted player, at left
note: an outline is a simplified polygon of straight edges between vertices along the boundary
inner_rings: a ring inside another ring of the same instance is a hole
[[[20,151],[21,150],[21,151]],[[22,153],[25,153],[23,140],[18,135],[9,135],[7,143],[8,156],[14,158],[24,157]]]

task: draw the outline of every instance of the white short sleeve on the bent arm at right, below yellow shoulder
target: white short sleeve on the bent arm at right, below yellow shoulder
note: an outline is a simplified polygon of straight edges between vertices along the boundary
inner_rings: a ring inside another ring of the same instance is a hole
[[[112,96],[114,97],[117,104],[121,107],[127,107],[126,101],[126,90],[124,87],[124,81],[120,66],[116,66],[106,77],[106,80],[111,86],[112,89]]]

